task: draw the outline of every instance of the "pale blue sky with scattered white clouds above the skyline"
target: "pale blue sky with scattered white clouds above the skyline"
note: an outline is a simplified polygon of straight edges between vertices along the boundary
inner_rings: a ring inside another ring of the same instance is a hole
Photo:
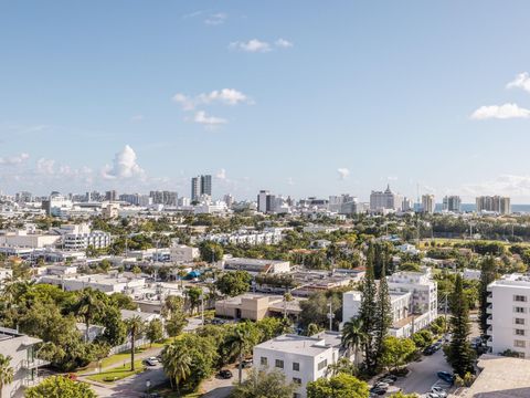
[[[530,202],[528,1],[0,1],[0,190]],[[511,82],[511,84],[510,84]]]

